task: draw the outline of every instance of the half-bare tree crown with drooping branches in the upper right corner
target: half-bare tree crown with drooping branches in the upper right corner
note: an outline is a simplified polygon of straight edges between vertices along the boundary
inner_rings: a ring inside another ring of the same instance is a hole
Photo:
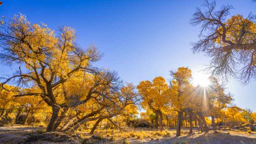
[[[211,57],[206,69],[216,77],[228,81],[230,76],[243,84],[256,78],[256,16],[250,13],[246,18],[235,15],[226,20],[232,5],[215,10],[215,1],[205,1],[205,12],[197,8],[190,23],[201,25],[199,41],[192,44],[193,53],[203,52]]]

